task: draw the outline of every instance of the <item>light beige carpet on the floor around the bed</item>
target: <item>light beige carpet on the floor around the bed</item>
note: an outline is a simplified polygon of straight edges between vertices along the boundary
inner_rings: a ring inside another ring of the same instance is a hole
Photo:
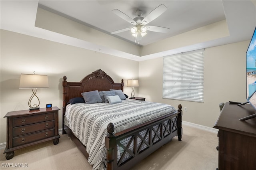
[[[134,166],[132,170],[215,170],[218,167],[218,137],[187,125],[182,125],[182,141],[171,142]],[[60,142],[36,144],[15,151],[14,158],[6,160],[1,149],[1,170],[92,170],[86,158],[66,134]],[[6,167],[22,164],[27,167]]]

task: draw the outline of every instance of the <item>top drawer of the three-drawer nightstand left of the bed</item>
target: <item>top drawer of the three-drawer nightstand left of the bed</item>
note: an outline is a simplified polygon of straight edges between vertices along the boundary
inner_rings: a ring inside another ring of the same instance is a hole
[[[54,113],[32,115],[13,119],[13,127],[54,120]]]

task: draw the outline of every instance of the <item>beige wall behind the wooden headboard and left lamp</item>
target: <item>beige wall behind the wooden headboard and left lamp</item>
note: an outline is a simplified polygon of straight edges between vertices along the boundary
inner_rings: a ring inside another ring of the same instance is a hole
[[[6,115],[9,111],[28,109],[31,89],[19,89],[20,73],[47,74],[48,89],[38,89],[40,107],[52,103],[62,109],[62,77],[67,81],[79,82],[85,75],[102,69],[115,82],[124,79],[124,93],[127,79],[138,78],[138,61],[106,55],[62,43],[1,30],[1,107],[0,143],[6,142]],[[135,89],[138,94],[138,89]],[[62,121],[59,112],[59,122]],[[59,123],[59,128],[61,128]]]

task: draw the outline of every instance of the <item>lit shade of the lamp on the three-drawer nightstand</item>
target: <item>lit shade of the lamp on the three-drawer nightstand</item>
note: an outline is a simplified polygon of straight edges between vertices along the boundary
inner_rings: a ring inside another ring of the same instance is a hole
[[[47,75],[21,74],[20,89],[48,88]]]

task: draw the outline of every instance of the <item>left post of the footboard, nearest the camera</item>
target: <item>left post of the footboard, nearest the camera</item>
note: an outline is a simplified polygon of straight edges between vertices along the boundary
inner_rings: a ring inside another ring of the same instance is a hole
[[[116,136],[114,135],[113,123],[108,124],[108,134],[105,137],[105,146],[107,148],[107,170],[114,170],[114,147],[116,146]]]

